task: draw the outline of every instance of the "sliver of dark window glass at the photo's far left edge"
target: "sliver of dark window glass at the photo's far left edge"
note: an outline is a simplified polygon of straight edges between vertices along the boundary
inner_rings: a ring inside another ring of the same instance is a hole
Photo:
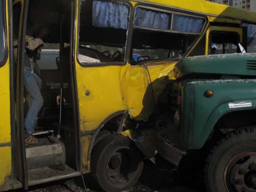
[[[0,1],[0,63],[4,59],[4,7],[3,7],[3,1]]]

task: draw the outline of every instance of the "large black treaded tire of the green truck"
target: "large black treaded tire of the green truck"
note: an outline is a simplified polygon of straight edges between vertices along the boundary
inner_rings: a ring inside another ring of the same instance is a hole
[[[256,192],[256,129],[236,130],[212,148],[205,166],[208,192]]]

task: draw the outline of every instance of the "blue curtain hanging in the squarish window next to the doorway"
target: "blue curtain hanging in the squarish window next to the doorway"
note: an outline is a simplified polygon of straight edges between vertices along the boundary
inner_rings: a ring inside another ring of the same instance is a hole
[[[92,23],[95,27],[127,29],[129,7],[123,3],[93,1]]]

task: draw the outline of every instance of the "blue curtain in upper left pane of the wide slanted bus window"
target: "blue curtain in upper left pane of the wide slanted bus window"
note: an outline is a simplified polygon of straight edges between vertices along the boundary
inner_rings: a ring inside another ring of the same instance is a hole
[[[135,12],[134,25],[155,29],[170,29],[171,15],[164,12],[137,8]]]

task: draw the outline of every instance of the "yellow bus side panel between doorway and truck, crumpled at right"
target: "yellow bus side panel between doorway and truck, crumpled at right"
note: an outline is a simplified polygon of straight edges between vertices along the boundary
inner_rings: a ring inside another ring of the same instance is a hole
[[[117,111],[128,110],[131,118],[148,120],[158,97],[173,79],[176,62],[131,66],[82,67],[76,64],[81,132],[97,129]],[[150,74],[150,78],[149,78]],[[151,84],[150,84],[151,79]],[[152,95],[152,88],[154,92]],[[91,136],[81,138],[83,172],[90,170],[88,151]]]

